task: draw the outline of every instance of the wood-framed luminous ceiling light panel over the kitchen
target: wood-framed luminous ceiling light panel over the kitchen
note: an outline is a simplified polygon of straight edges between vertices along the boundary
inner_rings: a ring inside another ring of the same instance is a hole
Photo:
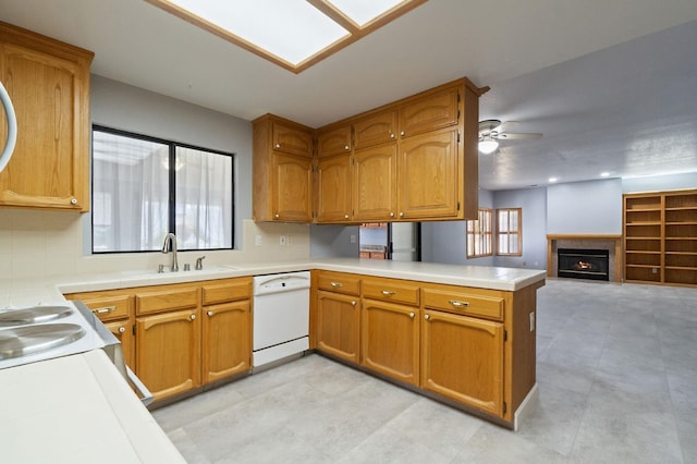
[[[427,0],[146,0],[299,73]]]

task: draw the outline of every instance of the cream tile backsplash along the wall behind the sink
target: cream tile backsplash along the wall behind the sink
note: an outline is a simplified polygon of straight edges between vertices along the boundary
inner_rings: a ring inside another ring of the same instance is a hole
[[[180,268],[206,256],[204,267],[309,258],[309,225],[243,221],[242,249],[180,252]],[[0,279],[84,272],[156,270],[161,253],[85,255],[83,217],[73,212],[0,209]],[[283,237],[283,239],[282,239]],[[284,245],[281,245],[284,242]],[[87,246],[89,248],[89,246]]]

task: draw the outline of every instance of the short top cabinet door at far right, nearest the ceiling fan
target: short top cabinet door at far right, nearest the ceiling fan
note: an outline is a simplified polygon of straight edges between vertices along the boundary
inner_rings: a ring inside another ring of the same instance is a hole
[[[400,108],[400,136],[409,137],[457,124],[458,87],[412,100]]]

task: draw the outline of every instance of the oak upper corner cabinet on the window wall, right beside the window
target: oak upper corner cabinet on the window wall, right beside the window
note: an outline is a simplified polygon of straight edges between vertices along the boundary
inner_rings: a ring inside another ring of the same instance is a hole
[[[266,114],[253,132],[254,220],[310,222],[314,131]]]

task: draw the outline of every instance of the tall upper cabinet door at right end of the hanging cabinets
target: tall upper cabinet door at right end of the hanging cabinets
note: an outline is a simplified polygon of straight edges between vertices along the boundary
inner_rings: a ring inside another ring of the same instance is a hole
[[[400,143],[400,219],[455,218],[458,205],[457,131]]]

